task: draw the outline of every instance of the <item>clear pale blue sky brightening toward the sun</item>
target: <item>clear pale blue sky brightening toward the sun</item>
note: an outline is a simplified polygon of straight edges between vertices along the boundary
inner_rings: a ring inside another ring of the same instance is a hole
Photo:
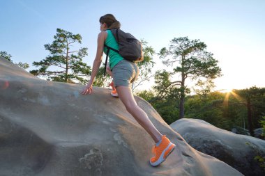
[[[15,63],[29,63],[29,70],[49,55],[44,45],[52,43],[57,28],[82,35],[75,47],[88,48],[84,62],[92,66],[99,18],[112,13],[123,31],[156,52],[173,38],[204,42],[222,69],[215,90],[265,87],[264,0],[0,0],[0,7],[0,51]],[[153,70],[161,69],[159,57],[153,59]]]

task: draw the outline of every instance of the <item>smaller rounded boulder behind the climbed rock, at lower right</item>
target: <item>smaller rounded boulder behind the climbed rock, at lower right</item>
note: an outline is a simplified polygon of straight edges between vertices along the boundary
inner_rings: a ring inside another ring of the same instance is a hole
[[[196,150],[229,164],[243,175],[265,175],[256,156],[265,156],[265,141],[219,129],[204,120],[183,118],[170,125]]]

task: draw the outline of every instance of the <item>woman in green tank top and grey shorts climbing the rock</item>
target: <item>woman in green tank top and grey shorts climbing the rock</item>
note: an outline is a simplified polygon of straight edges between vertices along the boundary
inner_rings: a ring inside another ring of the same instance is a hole
[[[100,67],[103,51],[106,53],[107,49],[104,44],[119,50],[119,45],[116,42],[114,35],[108,29],[119,29],[121,24],[116,20],[114,15],[107,14],[100,17],[100,33],[98,34],[98,48],[96,58],[93,62],[93,69],[91,73],[91,79],[87,86],[82,90],[82,94],[91,94],[93,81]],[[116,91],[126,106],[127,111],[139,122],[139,124],[150,134],[155,141],[154,147],[155,156],[150,159],[151,166],[158,166],[165,158],[174,150],[174,143],[171,143],[169,139],[164,135],[160,134],[158,129],[153,126],[153,123],[147,117],[146,113],[139,108],[135,102],[135,98],[132,95],[130,83],[137,79],[139,70],[135,63],[126,61],[115,51],[109,51],[109,67],[112,70],[112,77]]]

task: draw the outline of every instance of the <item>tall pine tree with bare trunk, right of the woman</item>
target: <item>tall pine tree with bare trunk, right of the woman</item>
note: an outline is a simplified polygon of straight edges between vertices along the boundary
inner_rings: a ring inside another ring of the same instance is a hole
[[[204,42],[189,40],[188,37],[174,38],[169,49],[164,47],[160,50],[160,58],[165,65],[173,66],[173,71],[169,72],[170,78],[176,77],[176,74],[181,77],[180,80],[168,79],[166,88],[179,88],[179,117],[183,118],[185,91],[188,89],[185,81],[207,81],[220,77],[218,61],[206,51]]]

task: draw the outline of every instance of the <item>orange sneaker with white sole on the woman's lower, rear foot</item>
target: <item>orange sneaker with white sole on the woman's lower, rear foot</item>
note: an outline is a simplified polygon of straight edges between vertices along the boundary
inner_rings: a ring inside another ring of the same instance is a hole
[[[169,156],[169,154],[174,150],[176,145],[171,143],[169,139],[164,135],[158,146],[153,147],[153,153],[155,157],[150,159],[151,166],[158,166],[160,163],[165,161],[165,159]]]

